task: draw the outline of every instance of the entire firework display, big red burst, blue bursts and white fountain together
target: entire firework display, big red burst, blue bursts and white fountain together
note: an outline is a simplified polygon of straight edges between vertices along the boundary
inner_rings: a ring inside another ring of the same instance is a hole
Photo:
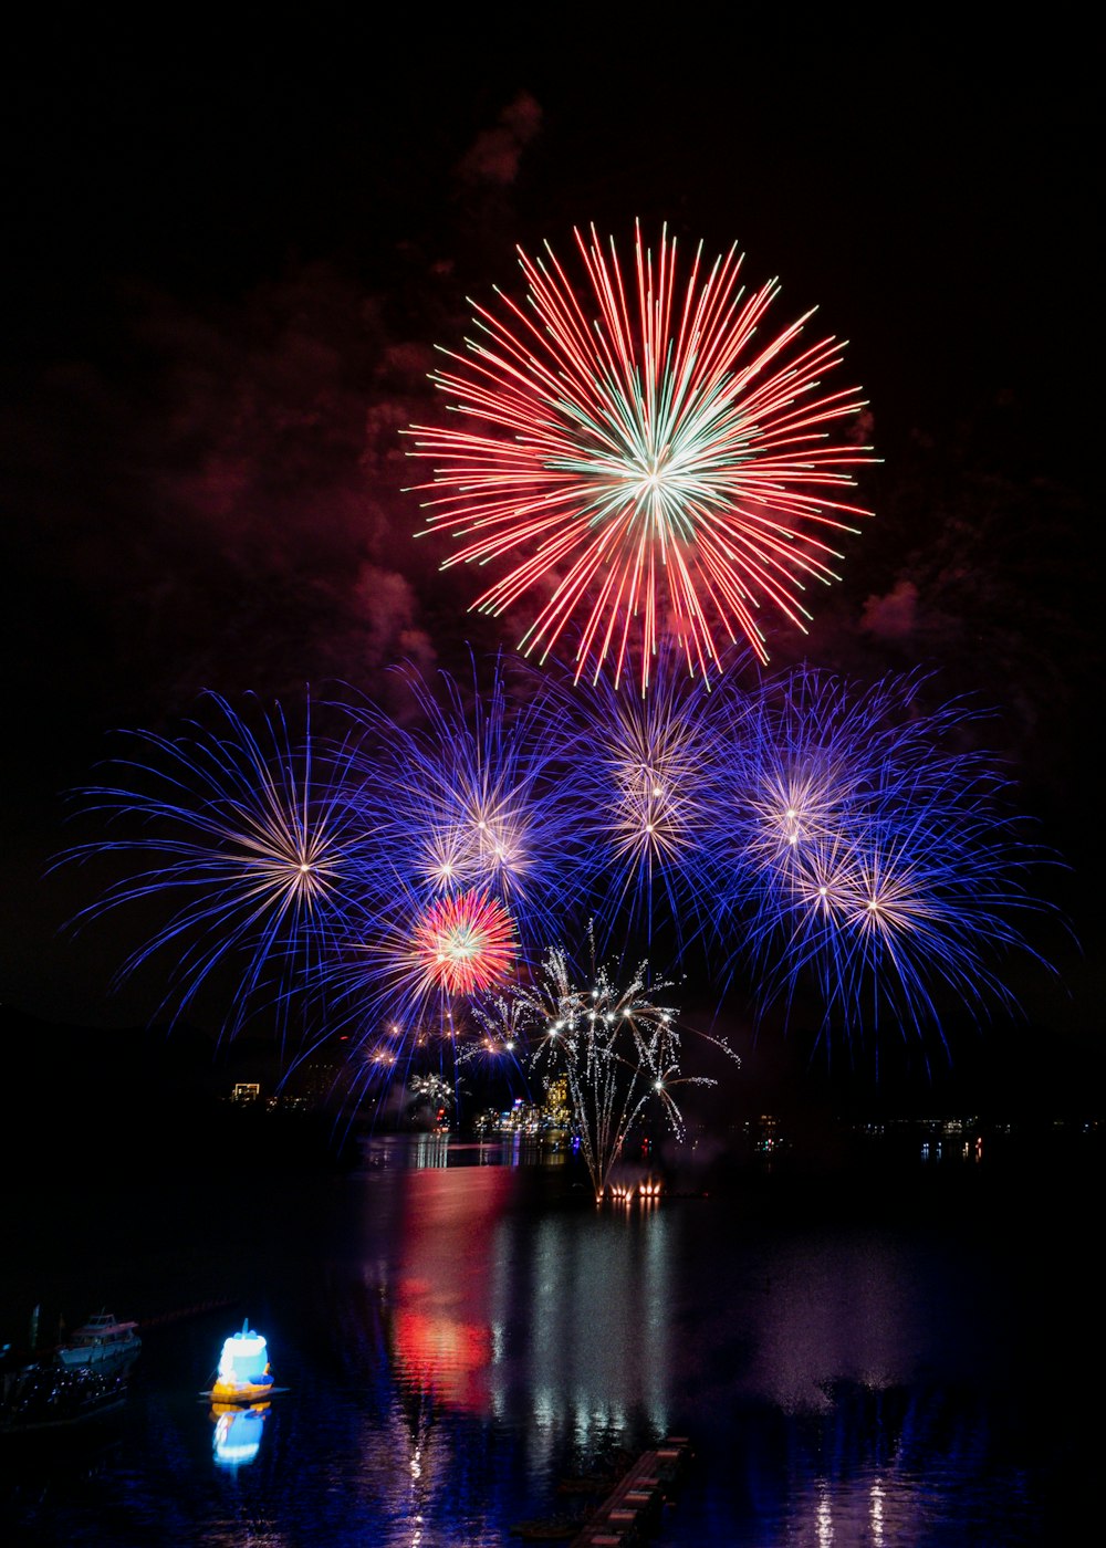
[[[1049,856],[979,714],[923,673],[762,675],[768,621],[802,627],[867,514],[843,347],[809,313],[770,327],[779,286],[747,291],[736,248],[686,262],[638,231],[624,269],[589,228],[575,259],[519,251],[525,299],[477,308],[432,378],[454,427],[409,430],[443,568],[497,576],[483,611],[530,608],[522,655],[397,669],[398,709],[350,692],[327,737],[310,706],[293,735],[279,704],[208,695],[181,734],[130,734],[62,861],[108,868],[76,924],[156,921],[119,977],[160,957],[161,1008],[211,985],[231,1034],[283,1037],[293,1005],[301,1048],[341,1026],[359,1093],[426,1076],[423,1050],[435,1079],[556,1050],[601,1194],[646,1099],[678,1128],[678,1039],[644,966],[617,988],[593,944],[579,989],[572,943],[686,955],[761,1011],[813,998],[827,1043],[925,1040],[1012,1008]]]

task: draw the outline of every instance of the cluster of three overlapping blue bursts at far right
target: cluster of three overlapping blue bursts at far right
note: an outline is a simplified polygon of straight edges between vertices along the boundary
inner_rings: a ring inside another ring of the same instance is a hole
[[[957,751],[963,701],[925,712],[919,675],[855,689],[804,669],[765,686],[740,723],[742,757],[717,847],[733,882],[730,954],[754,964],[762,1005],[810,978],[824,1029],[940,1031],[942,1000],[1013,1008],[998,964],[1030,952],[1038,909],[1024,844],[990,760]],[[736,921],[740,920],[740,924]]]

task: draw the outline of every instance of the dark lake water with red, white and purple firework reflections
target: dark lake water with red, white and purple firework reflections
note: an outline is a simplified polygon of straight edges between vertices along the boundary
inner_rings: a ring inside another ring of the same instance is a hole
[[[428,1136],[353,1176],[229,1156],[25,1198],[3,1337],[36,1300],[70,1324],[225,1305],[146,1328],[94,1430],[0,1437],[0,1540],[493,1548],[666,1433],[694,1463],[665,1548],[1081,1540],[1094,1158],[874,1155],[629,1209],[514,1159]],[[243,1316],[288,1390],[218,1427],[200,1390]]]

